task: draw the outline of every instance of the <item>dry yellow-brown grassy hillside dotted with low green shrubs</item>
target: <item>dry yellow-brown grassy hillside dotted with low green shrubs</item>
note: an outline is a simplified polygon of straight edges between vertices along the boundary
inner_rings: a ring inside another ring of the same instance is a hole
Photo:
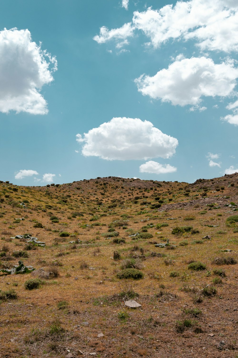
[[[43,268],[0,272],[0,357],[238,357],[237,204],[238,174],[0,182],[0,270]]]

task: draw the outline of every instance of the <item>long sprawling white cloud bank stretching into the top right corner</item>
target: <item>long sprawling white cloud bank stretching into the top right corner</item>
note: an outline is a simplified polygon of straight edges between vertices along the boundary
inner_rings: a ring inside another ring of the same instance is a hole
[[[128,36],[141,30],[150,40],[147,45],[154,48],[169,39],[186,41],[193,38],[201,50],[238,51],[238,5],[235,0],[177,1],[174,6],[165,5],[158,10],[149,7],[141,13],[135,11],[132,23],[128,24]],[[114,34],[122,28],[108,30],[103,26],[100,36],[94,39],[99,43],[116,39]],[[124,39],[127,38],[127,33],[123,33]]]

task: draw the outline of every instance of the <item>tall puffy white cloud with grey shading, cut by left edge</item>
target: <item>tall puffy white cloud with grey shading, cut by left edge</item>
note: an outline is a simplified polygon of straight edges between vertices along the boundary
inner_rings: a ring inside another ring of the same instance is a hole
[[[0,111],[46,114],[40,91],[53,81],[56,58],[32,41],[29,30],[14,28],[0,31],[0,63]]]

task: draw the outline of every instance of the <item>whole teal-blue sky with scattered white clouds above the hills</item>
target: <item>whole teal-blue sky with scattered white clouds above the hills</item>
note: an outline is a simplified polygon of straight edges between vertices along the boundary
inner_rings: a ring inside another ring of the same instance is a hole
[[[8,0],[0,180],[238,171],[236,0]]]

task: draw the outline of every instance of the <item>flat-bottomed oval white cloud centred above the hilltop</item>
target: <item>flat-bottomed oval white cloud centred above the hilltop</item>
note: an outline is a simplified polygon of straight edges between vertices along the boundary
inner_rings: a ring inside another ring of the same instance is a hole
[[[163,134],[149,121],[113,118],[88,133],[76,135],[84,156],[106,160],[170,158],[178,145],[176,138]]]

